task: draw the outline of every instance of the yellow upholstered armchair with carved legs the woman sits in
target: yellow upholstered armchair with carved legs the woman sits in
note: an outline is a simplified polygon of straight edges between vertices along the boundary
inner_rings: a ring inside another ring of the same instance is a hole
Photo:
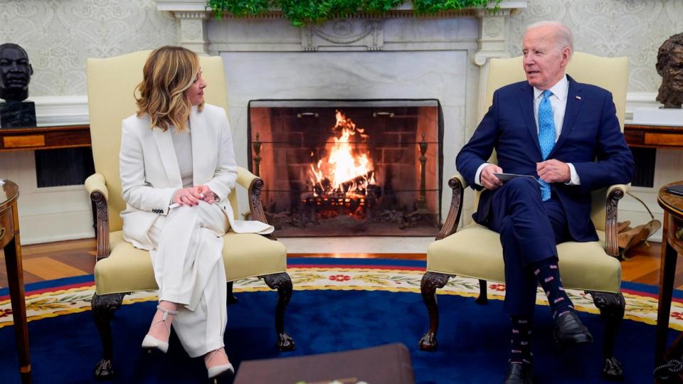
[[[121,306],[125,294],[157,289],[149,252],[134,248],[123,240],[120,211],[125,209],[119,176],[121,121],[136,110],[134,87],[142,81],[142,67],[149,51],[129,53],[115,58],[88,59],[88,109],[90,137],[96,173],[85,181],[90,193],[97,226],[96,292],[92,297],[92,315],[102,339],[103,357],[95,367],[95,376],[112,378],[113,343],[110,321]],[[205,100],[228,110],[223,60],[201,57],[203,78],[208,87]],[[260,203],[263,180],[238,167],[238,186],[248,191],[251,218],[265,222]],[[238,218],[235,191],[228,196]],[[228,232],[223,236],[223,260],[226,265],[228,304],[236,301],[232,294],[237,279],[258,276],[268,287],[277,289],[275,331],[277,348],[291,351],[292,338],[285,333],[285,307],[292,295],[292,280],[287,274],[287,252],[275,237]],[[151,316],[151,315],[150,315]]]

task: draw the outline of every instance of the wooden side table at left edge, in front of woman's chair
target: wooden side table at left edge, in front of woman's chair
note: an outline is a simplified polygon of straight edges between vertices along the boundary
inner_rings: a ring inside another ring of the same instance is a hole
[[[28,358],[28,326],[26,324],[26,301],[23,297],[23,268],[21,267],[21,245],[19,244],[19,216],[16,199],[19,188],[9,180],[0,185],[0,247],[4,249],[7,267],[9,297],[14,317],[14,336],[19,354],[21,383],[31,383],[31,362]]]

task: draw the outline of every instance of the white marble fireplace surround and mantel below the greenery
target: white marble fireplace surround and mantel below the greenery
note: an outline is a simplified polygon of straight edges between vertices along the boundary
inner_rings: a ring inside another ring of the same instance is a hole
[[[408,1],[383,16],[357,14],[295,28],[277,10],[246,18],[224,14],[219,21],[205,0],[155,2],[159,11],[171,11],[179,20],[182,46],[223,58],[230,101],[226,112],[240,166],[254,169],[250,100],[433,99],[439,100],[443,124],[438,174],[447,178],[456,173],[455,156],[485,112],[480,80],[488,60],[509,56],[508,36],[518,27],[511,23],[511,13],[527,3],[501,1],[495,11],[472,8],[424,15],[415,14]],[[369,33],[350,38],[354,31]],[[262,144],[263,156],[270,145]],[[266,181],[275,192],[272,177]],[[441,188],[448,189],[445,182]],[[445,218],[450,193],[442,194],[440,206]],[[472,193],[465,193],[463,206],[467,223]],[[248,210],[245,200],[238,209]]]

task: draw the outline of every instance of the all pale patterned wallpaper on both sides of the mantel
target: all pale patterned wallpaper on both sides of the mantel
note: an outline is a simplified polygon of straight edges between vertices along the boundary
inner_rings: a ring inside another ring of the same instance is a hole
[[[629,56],[630,92],[657,92],[657,48],[683,32],[681,0],[529,0],[512,16],[509,52],[524,28],[563,21],[576,49]],[[31,96],[85,95],[85,59],[176,44],[179,23],[153,0],[0,0],[0,43],[26,48],[35,73]]]

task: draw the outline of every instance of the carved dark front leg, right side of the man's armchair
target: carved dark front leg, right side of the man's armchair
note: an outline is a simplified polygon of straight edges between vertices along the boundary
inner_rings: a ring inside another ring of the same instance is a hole
[[[608,380],[621,380],[624,371],[621,363],[614,357],[615,342],[617,332],[624,319],[626,302],[624,295],[588,292],[593,297],[593,303],[600,309],[600,317],[605,321],[605,339],[603,340],[603,378]]]

